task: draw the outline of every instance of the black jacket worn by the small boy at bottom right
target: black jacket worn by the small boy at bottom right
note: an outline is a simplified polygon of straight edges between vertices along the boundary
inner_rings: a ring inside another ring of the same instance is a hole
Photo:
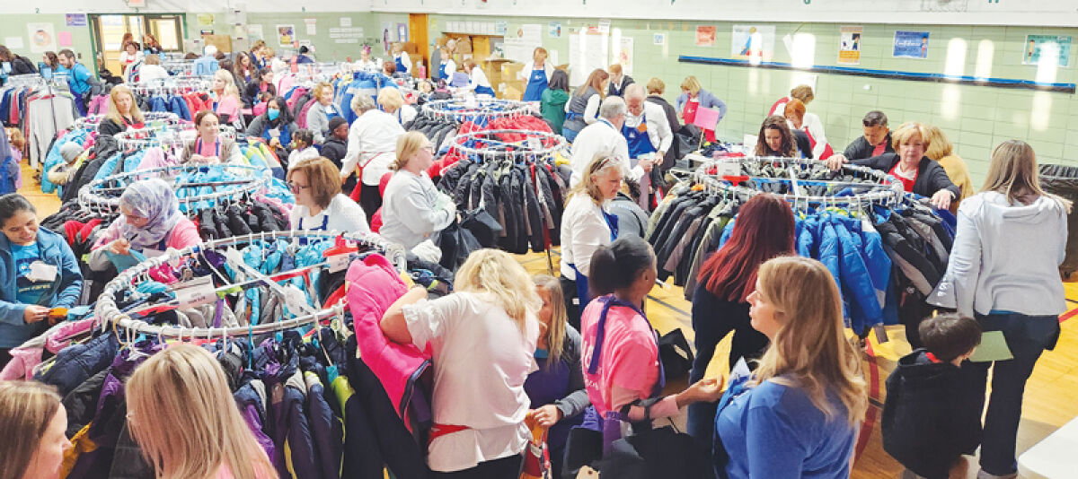
[[[972,385],[977,375],[968,366],[932,363],[925,353],[902,357],[887,378],[883,449],[920,476],[945,478],[959,454],[981,443],[975,396],[983,389]]]

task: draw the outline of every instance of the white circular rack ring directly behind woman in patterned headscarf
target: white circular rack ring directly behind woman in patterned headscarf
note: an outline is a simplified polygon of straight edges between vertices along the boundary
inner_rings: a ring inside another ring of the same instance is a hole
[[[215,171],[216,170],[216,171]],[[179,182],[181,178],[198,173],[220,172],[223,180]],[[148,168],[127,173],[113,174],[94,180],[79,189],[79,206],[87,211],[116,212],[120,196],[132,183],[139,180],[160,178],[165,180],[177,194],[180,210],[191,211],[191,205],[216,202],[220,198],[235,195],[252,195],[267,187],[273,180],[273,171],[246,165],[178,165]],[[182,194],[188,188],[210,188],[209,193]]]

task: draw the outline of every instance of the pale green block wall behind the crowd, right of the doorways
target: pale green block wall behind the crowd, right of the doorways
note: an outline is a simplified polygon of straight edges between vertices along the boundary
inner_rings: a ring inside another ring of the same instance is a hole
[[[431,15],[434,39],[447,22],[495,22],[483,16]],[[573,28],[597,25],[598,19],[550,17],[508,18],[508,31],[522,24],[543,26],[542,43],[557,52],[561,64],[569,61],[569,32]],[[562,23],[562,37],[548,34],[550,22]],[[715,25],[715,46],[696,46],[697,25]],[[730,57],[733,23],[613,20],[611,28],[634,38],[635,68],[633,78],[647,82],[658,76],[666,83],[666,99],[672,103],[687,75],[695,75],[704,88],[714,93],[729,107],[719,124],[722,138],[741,141],[744,135],[756,135],[771,104],[789,93],[794,71],[743,67],[681,64],[678,55]],[[993,45],[991,73],[993,78],[1034,80],[1036,66],[1022,65],[1026,34],[1067,34],[1078,40],[1078,29],[1014,28],[973,26],[909,26],[863,25],[860,68],[943,73],[951,39],[966,43],[965,58],[958,56],[960,73],[972,75],[977,68],[978,48],[982,40]],[[776,24],[774,61],[790,62],[783,36],[810,33],[815,38],[814,65],[838,65],[838,24]],[[895,30],[929,31],[928,59],[892,57]],[[655,33],[666,34],[666,46],[653,44]],[[987,43],[986,43],[987,44]],[[958,47],[955,47],[955,52]],[[1069,67],[1058,70],[1055,82],[1078,83],[1078,58],[1074,52]],[[952,70],[955,67],[952,67]],[[868,85],[869,89],[865,89]],[[1078,150],[1078,97],[1073,94],[1008,89],[976,85],[953,85],[902,80],[882,80],[820,73],[816,99],[808,111],[820,116],[830,144],[842,151],[857,135],[860,119],[870,110],[884,111],[893,127],[907,121],[920,121],[940,126],[955,144],[956,153],[969,165],[975,184],[980,185],[987,170],[992,149],[999,142],[1018,138],[1029,142],[1041,163],[1078,165],[1078,158],[1064,152]]]

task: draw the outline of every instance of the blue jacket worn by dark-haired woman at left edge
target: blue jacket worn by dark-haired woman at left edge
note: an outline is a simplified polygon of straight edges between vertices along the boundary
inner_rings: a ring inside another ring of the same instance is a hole
[[[64,237],[45,228],[38,229],[38,249],[41,259],[56,267],[57,280],[49,292],[46,305],[71,308],[79,301],[82,291],[82,271],[74,259],[71,246]],[[47,323],[26,324],[23,313],[27,305],[17,302],[15,280],[18,272],[11,253],[11,241],[0,235],[0,348],[15,348],[42,333]]]

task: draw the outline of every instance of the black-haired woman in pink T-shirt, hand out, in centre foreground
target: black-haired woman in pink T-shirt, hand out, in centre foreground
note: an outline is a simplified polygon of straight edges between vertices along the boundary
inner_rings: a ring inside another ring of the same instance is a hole
[[[592,288],[600,295],[581,315],[584,386],[592,406],[580,427],[602,432],[603,452],[635,431],[651,427],[651,420],[668,418],[679,408],[721,397],[717,380],[701,380],[685,391],[661,397],[665,385],[659,338],[641,306],[654,286],[655,255],[644,239],[620,238],[599,246],[592,260]],[[570,436],[567,468],[590,463],[575,454]],[[597,460],[599,457],[591,457]]]

